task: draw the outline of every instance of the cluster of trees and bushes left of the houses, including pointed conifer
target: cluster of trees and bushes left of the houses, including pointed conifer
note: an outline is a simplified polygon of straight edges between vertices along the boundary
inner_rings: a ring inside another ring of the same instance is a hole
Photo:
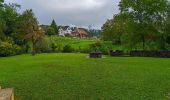
[[[33,11],[30,9],[19,13],[20,7],[18,4],[6,4],[4,0],[0,0],[0,56],[29,51],[35,55],[36,46],[43,41],[45,35],[58,34],[54,20],[43,30]]]

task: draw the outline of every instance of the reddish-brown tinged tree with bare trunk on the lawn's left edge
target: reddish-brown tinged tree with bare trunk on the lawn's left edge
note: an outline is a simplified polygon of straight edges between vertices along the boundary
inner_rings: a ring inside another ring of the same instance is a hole
[[[32,10],[26,10],[19,17],[18,37],[24,40],[32,41],[32,55],[36,54],[36,43],[42,39],[43,32],[38,25],[38,21]]]

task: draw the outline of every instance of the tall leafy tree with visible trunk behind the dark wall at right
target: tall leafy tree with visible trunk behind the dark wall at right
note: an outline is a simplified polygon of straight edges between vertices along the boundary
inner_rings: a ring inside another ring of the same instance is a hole
[[[133,25],[127,28],[133,31],[129,32],[138,34],[138,41],[135,41],[135,44],[142,42],[142,47],[145,49],[145,42],[150,33],[162,34],[167,0],[121,0],[119,6],[120,14],[126,14],[131,18],[131,21],[127,22]],[[128,17],[127,19],[129,20]]]

